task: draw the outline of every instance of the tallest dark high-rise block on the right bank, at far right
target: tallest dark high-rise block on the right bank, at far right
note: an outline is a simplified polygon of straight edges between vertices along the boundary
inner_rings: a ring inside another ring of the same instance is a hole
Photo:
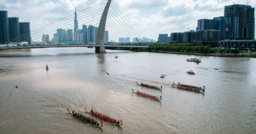
[[[230,5],[224,7],[224,39],[254,40],[254,10],[248,5]]]

